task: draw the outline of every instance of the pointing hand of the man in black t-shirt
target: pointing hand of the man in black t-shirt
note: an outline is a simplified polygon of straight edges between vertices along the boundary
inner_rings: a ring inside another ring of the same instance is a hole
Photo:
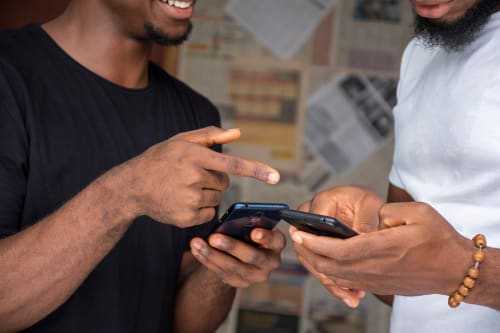
[[[228,174],[279,181],[279,173],[265,164],[209,148],[240,136],[239,130],[217,127],[178,134],[120,166],[120,188],[127,189],[137,215],[181,228],[210,221],[229,186]]]

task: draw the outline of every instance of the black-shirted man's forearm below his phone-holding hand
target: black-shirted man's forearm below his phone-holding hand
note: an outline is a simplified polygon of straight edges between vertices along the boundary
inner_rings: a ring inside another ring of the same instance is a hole
[[[231,310],[235,293],[215,273],[198,265],[177,294],[174,332],[216,331]]]

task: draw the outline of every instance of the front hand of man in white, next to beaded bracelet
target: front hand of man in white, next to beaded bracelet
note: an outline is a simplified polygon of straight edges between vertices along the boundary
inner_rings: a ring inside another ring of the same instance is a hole
[[[292,230],[299,256],[338,286],[379,295],[449,295],[473,244],[424,203],[386,204],[381,231],[340,240]]]

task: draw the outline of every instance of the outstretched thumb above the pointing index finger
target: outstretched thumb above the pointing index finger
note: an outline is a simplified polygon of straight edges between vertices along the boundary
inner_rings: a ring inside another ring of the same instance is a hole
[[[215,126],[181,133],[177,139],[189,141],[206,147],[223,145],[238,140],[241,137],[239,129],[222,129]]]

